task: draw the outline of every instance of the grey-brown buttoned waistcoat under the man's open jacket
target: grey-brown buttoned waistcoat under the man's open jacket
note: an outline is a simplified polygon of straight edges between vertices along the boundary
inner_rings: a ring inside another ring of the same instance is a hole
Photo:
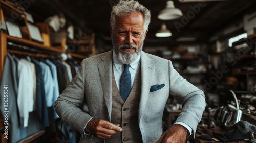
[[[134,81],[134,85],[129,97],[123,102],[117,89],[113,69],[112,69],[112,113],[111,123],[120,124],[122,132],[114,134],[105,142],[142,142],[139,129],[139,102],[141,91],[141,72],[140,66]]]

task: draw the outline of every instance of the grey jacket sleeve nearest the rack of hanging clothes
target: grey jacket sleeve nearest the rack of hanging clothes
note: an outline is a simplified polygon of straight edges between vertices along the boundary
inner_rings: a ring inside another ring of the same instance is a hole
[[[81,63],[78,72],[72,79],[69,86],[55,101],[55,110],[62,121],[70,125],[81,135],[84,135],[84,127],[92,118],[89,114],[83,112],[80,107],[84,101],[84,79],[86,73],[85,61]]]

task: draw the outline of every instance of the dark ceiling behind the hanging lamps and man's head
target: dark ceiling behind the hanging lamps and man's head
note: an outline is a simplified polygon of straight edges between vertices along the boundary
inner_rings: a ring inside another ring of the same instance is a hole
[[[31,0],[32,1],[32,0]],[[110,13],[112,6],[119,0],[37,0],[31,2],[29,11],[37,16],[37,20],[44,20],[54,13],[62,12],[74,25],[97,38],[110,42]],[[145,43],[148,45],[176,45],[180,43],[205,43],[216,36],[227,38],[243,32],[243,28],[228,35],[222,33],[222,28],[228,25],[239,25],[243,15],[255,12],[255,0],[226,0],[226,1],[198,1],[181,3],[174,0],[175,7],[181,9],[183,17],[176,20],[163,21],[157,18],[158,13],[165,8],[166,0],[139,0],[151,10],[152,19],[148,28]],[[196,7],[197,9],[195,11]],[[47,10],[46,10],[47,9]],[[194,9],[194,10],[193,10]],[[40,14],[41,13],[41,14]],[[187,17],[187,19],[186,19]],[[157,38],[155,33],[165,23],[173,36]],[[177,28],[178,27],[178,28]],[[195,41],[177,41],[181,37],[193,37]]]

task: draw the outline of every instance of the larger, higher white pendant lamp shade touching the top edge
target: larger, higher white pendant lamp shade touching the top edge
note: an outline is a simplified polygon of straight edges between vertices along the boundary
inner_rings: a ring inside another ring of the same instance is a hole
[[[161,20],[174,20],[182,17],[180,9],[174,7],[173,1],[167,1],[166,8],[161,10],[158,14],[158,19]]]

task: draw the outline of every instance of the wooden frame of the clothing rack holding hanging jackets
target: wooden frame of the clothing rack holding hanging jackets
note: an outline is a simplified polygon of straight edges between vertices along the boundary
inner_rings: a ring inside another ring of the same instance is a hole
[[[65,53],[64,47],[52,47],[47,46],[32,40],[17,38],[10,36],[6,33],[0,32],[0,80],[2,80],[2,74],[4,70],[5,59],[7,57],[7,52],[12,54],[27,55],[31,57],[38,58],[58,58],[57,55]],[[20,45],[18,47],[11,47],[13,45]],[[0,113],[0,129],[5,127],[3,116]],[[22,142],[31,142],[40,136],[45,134],[45,130],[39,131],[34,135],[27,136]],[[8,139],[1,136],[0,142],[7,143]]]

